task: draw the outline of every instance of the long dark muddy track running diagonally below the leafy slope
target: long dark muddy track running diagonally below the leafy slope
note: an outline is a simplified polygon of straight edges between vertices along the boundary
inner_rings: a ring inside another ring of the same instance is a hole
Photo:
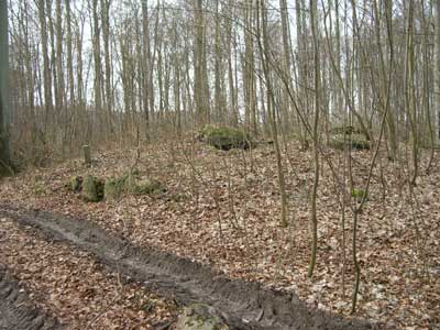
[[[296,295],[228,279],[188,258],[140,249],[84,219],[9,206],[0,206],[0,216],[91,252],[107,266],[144,283],[160,295],[174,297],[182,304],[207,304],[227,320],[231,329],[373,329],[367,322],[311,310]]]

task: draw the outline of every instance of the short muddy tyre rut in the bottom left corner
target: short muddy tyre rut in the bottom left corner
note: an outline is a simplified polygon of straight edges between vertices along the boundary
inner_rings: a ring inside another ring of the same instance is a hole
[[[55,330],[59,323],[32,306],[28,295],[20,289],[0,266],[0,330]]]

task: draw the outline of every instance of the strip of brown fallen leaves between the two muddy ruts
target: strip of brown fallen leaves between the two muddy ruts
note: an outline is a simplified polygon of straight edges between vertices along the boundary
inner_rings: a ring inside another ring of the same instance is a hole
[[[123,280],[91,253],[8,217],[0,217],[1,266],[26,292],[24,302],[32,301],[66,330],[157,330],[178,314],[175,301]]]

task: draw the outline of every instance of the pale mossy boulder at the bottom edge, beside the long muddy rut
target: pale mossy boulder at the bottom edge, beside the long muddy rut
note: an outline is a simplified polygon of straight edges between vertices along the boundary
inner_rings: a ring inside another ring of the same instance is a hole
[[[194,304],[185,307],[175,326],[176,330],[229,330],[228,324],[213,308]]]

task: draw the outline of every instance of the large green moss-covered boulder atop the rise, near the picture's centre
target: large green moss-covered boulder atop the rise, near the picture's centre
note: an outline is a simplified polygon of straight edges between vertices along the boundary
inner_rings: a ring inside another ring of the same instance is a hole
[[[206,125],[200,134],[202,141],[224,151],[249,148],[254,144],[252,138],[245,131],[230,127]]]

